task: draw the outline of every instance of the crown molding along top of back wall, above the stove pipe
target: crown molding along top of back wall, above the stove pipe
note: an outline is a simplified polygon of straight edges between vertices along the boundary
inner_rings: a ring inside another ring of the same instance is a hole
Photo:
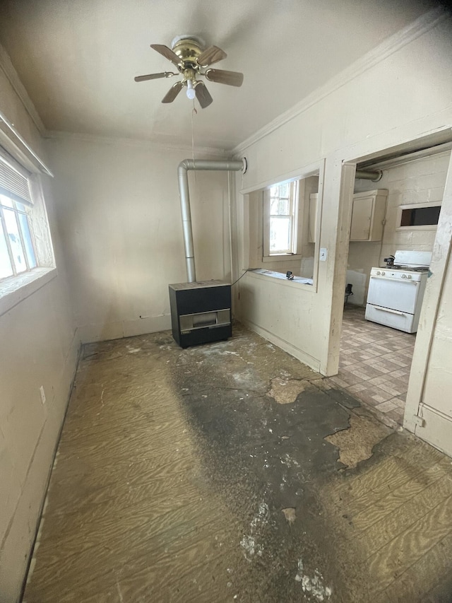
[[[162,148],[168,151],[182,151],[188,153],[189,157],[195,152],[196,155],[204,154],[218,157],[229,157],[230,151],[226,148],[215,148],[209,146],[195,146],[194,148],[188,144],[174,144],[165,141],[155,141],[151,139],[136,139],[136,138],[125,138],[121,136],[101,136],[99,134],[83,134],[81,132],[68,132],[61,130],[47,130],[46,139],[54,140],[74,140],[84,141],[93,144],[123,144],[125,146],[135,146],[138,148],[156,148],[162,150]]]

